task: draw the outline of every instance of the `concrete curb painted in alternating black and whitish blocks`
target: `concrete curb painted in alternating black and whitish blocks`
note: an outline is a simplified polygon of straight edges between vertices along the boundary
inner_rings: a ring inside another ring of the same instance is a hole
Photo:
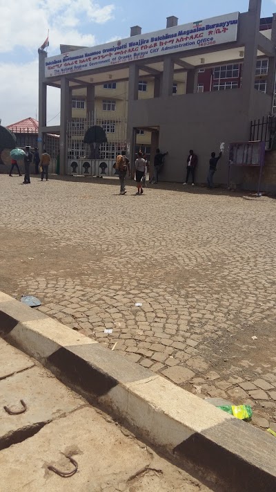
[[[219,492],[276,490],[276,440],[0,293],[0,334]]]

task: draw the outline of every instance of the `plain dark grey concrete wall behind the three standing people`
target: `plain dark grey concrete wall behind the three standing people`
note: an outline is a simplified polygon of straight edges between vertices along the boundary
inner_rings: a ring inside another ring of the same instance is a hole
[[[169,152],[161,180],[183,181],[186,157],[193,149],[199,156],[196,181],[205,183],[210,153],[219,152],[221,142],[227,149],[231,142],[249,140],[250,120],[261,118],[270,110],[271,98],[259,91],[254,93],[250,111],[244,111],[243,100],[243,89],[134,100],[129,102],[132,120],[128,124],[159,127],[159,147],[161,152]],[[227,176],[226,150],[214,181],[226,184]]]

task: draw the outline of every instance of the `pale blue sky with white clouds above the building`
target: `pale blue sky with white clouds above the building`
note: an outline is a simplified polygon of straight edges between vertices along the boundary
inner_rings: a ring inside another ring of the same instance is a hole
[[[249,0],[0,0],[0,119],[10,125],[38,117],[38,54],[47,37],[48,56],[60,44],[95,46],[166,28],[166,17],[179,25],[229,12],[246,12]],[[262,1],[262,16],[276,12],[276,0]],[[47,120],[59,124],[59,89],[48,88]]]

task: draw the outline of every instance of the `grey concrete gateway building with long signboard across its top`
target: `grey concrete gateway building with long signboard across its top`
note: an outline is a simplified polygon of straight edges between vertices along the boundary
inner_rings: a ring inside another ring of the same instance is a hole
[[[97,121],[95,89],[96,93],[100,87],[112,91],[116,84],[124,82],[126,121],[117,138],[112,98],[108,95],[107,100],[103,99],[106,113],[101,115],[101,123],[104,121],[108,141],[112,142],[109,154],[98,160],[110,161],[103,174],[114,172],[112,160],[122,148],[133,161],[137,136],[145,132],[150,135],[151,162],[157,147],[168,151],[164,181],[183,181],[185,157],[193,149],[199,156],[197,182],[205,182],[210,152],[219,152],[220,143],[225,143],[226,152],[217,172],[217,182],[225,184],[228,145],[250,140],[250,122],[273,112],[276,16],[270,26],[260,31],[261,5],[261,0],[250,0],[248,12],[196,19],[183,26],[177,26],[176,17],[168,17],[164,30],[141,34],[141,28],[135,26],[128,39],[94,48],[62,46],[63,53],[55,57],[47,57],[39,50],[41,149],[46,134],[59,134],[61,174],[72,173],[74,158],[75,171],[77,165],[81,170],[80,161],[86,159],[86,172],[98,174],[96,161],[89,161],[85,151],[78,156],[72,154],[72,142],[77,138],[74,129],[80,137],[86,125]],[[258,61],[262,65],[262,60],[267,61],[265,92],[257,90],[255,84],[256,66]],[[232,84],[229,78],[237,67],[242,73],[241,82]],[[201,91],[199,76],[210,68],[211,79],[219,80],[217,84],[211,80],[210,90]],[[143,89],[147,84],[152,88],[148,93]],[[61,89],[60,126],[46,126],[47,86]],[[78,93],[84,93],[86,115],[81,121],[72,122],[72,100]]]

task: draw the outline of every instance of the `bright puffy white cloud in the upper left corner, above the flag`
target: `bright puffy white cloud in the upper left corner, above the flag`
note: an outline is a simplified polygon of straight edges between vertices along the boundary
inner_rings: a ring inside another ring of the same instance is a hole
[[[16,46],[38,48],[50,29],[50,46],[95,42],[92,35],[81,35],[81,19],[103,24],[112,19],[115,6],[99,6],[95,0],[0,0],[0,53]]]

